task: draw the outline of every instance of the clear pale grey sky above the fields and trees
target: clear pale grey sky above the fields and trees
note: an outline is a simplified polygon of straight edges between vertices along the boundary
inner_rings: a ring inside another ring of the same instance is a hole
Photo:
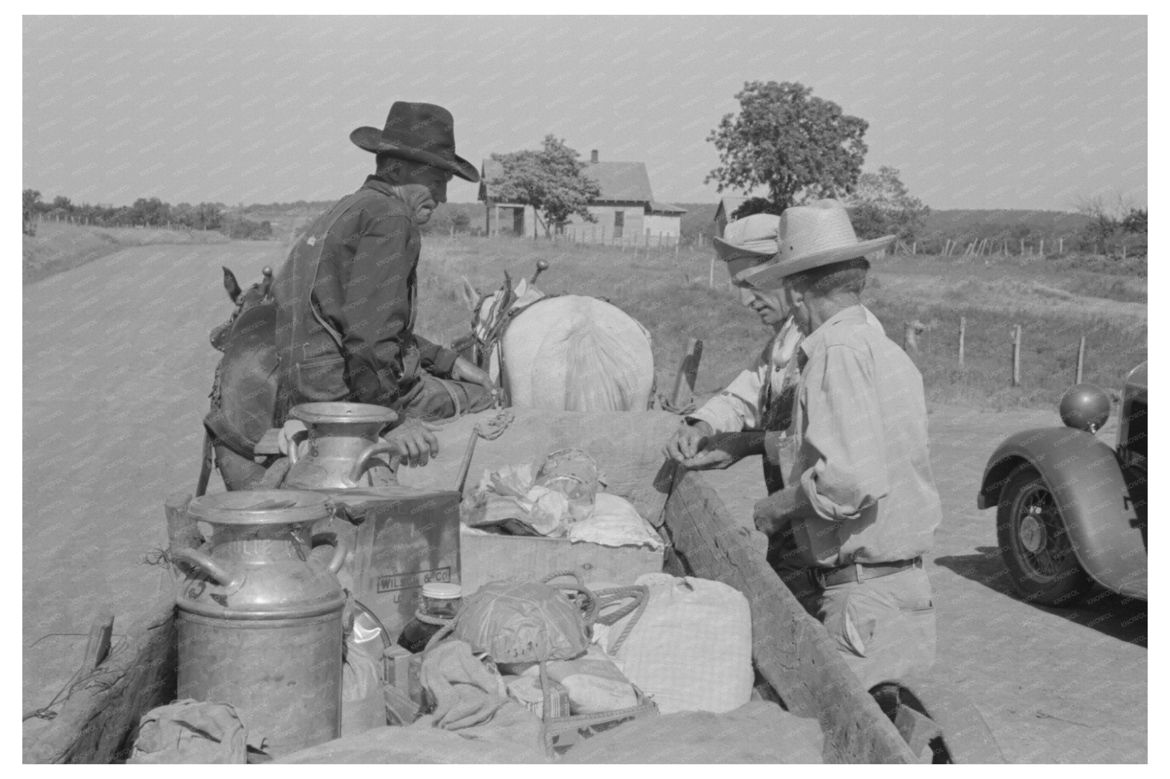
[[[758,80],[869,122],[865,170],[934,208],[1147,202],[1144,16],[25,16],[22,37],[23,186],[47,200],[337,199],[373,170],[350,132],[406,99],[449,109],[476,166],[553,133],[714,202],[707,138]]]

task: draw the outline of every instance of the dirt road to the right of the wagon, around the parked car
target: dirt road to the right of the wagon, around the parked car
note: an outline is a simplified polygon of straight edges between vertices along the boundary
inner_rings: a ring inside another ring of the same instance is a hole
[[[935,591],[932,669],[975,702],[1009,763],[1147,760],[1145,604],[1096,590],[1073,609],[1021,602],[979,511],[983,467],[1009,434],[1060,425],[1054,411],[930,409],[930,462],[943,523],[925,558]],[[1115,420],[1101,432],[1112,442]],[[750,526],[766,495],[758,457],[708,474]]]

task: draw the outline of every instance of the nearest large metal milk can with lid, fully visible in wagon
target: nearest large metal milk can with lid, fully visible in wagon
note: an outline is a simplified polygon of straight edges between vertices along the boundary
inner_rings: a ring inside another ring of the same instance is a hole
[[[208,545],[174,559],[193,570],[178,605],[179,698],[229,703],[278,756],[340,736],[345,545],[312,537],[328,498],[294,490],[205,495],[187,509]],[[310,557],[314,544],[332,558]]]

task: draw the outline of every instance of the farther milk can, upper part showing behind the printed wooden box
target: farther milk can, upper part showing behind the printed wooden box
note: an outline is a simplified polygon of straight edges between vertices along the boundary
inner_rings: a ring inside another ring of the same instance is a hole
[[[378,441],[378,433],[395,419],[390,408],[369,404],[301,404],[289,411],[308,427],[308,453],[289,447],[289,471],[282,487],[290,490],[397,484],[392,461],[394,451]]]

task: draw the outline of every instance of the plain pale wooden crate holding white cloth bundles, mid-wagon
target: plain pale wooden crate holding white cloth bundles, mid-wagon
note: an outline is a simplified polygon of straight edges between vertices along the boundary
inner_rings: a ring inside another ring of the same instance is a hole
[[[541,579],[557,571],[576,571],[585,582],[633,584],[644,573],[662,571],[662,552],[644,546],[601,546],[566,538],[487,536],[466,530],[460,536],[463,594],[500,579]]]

